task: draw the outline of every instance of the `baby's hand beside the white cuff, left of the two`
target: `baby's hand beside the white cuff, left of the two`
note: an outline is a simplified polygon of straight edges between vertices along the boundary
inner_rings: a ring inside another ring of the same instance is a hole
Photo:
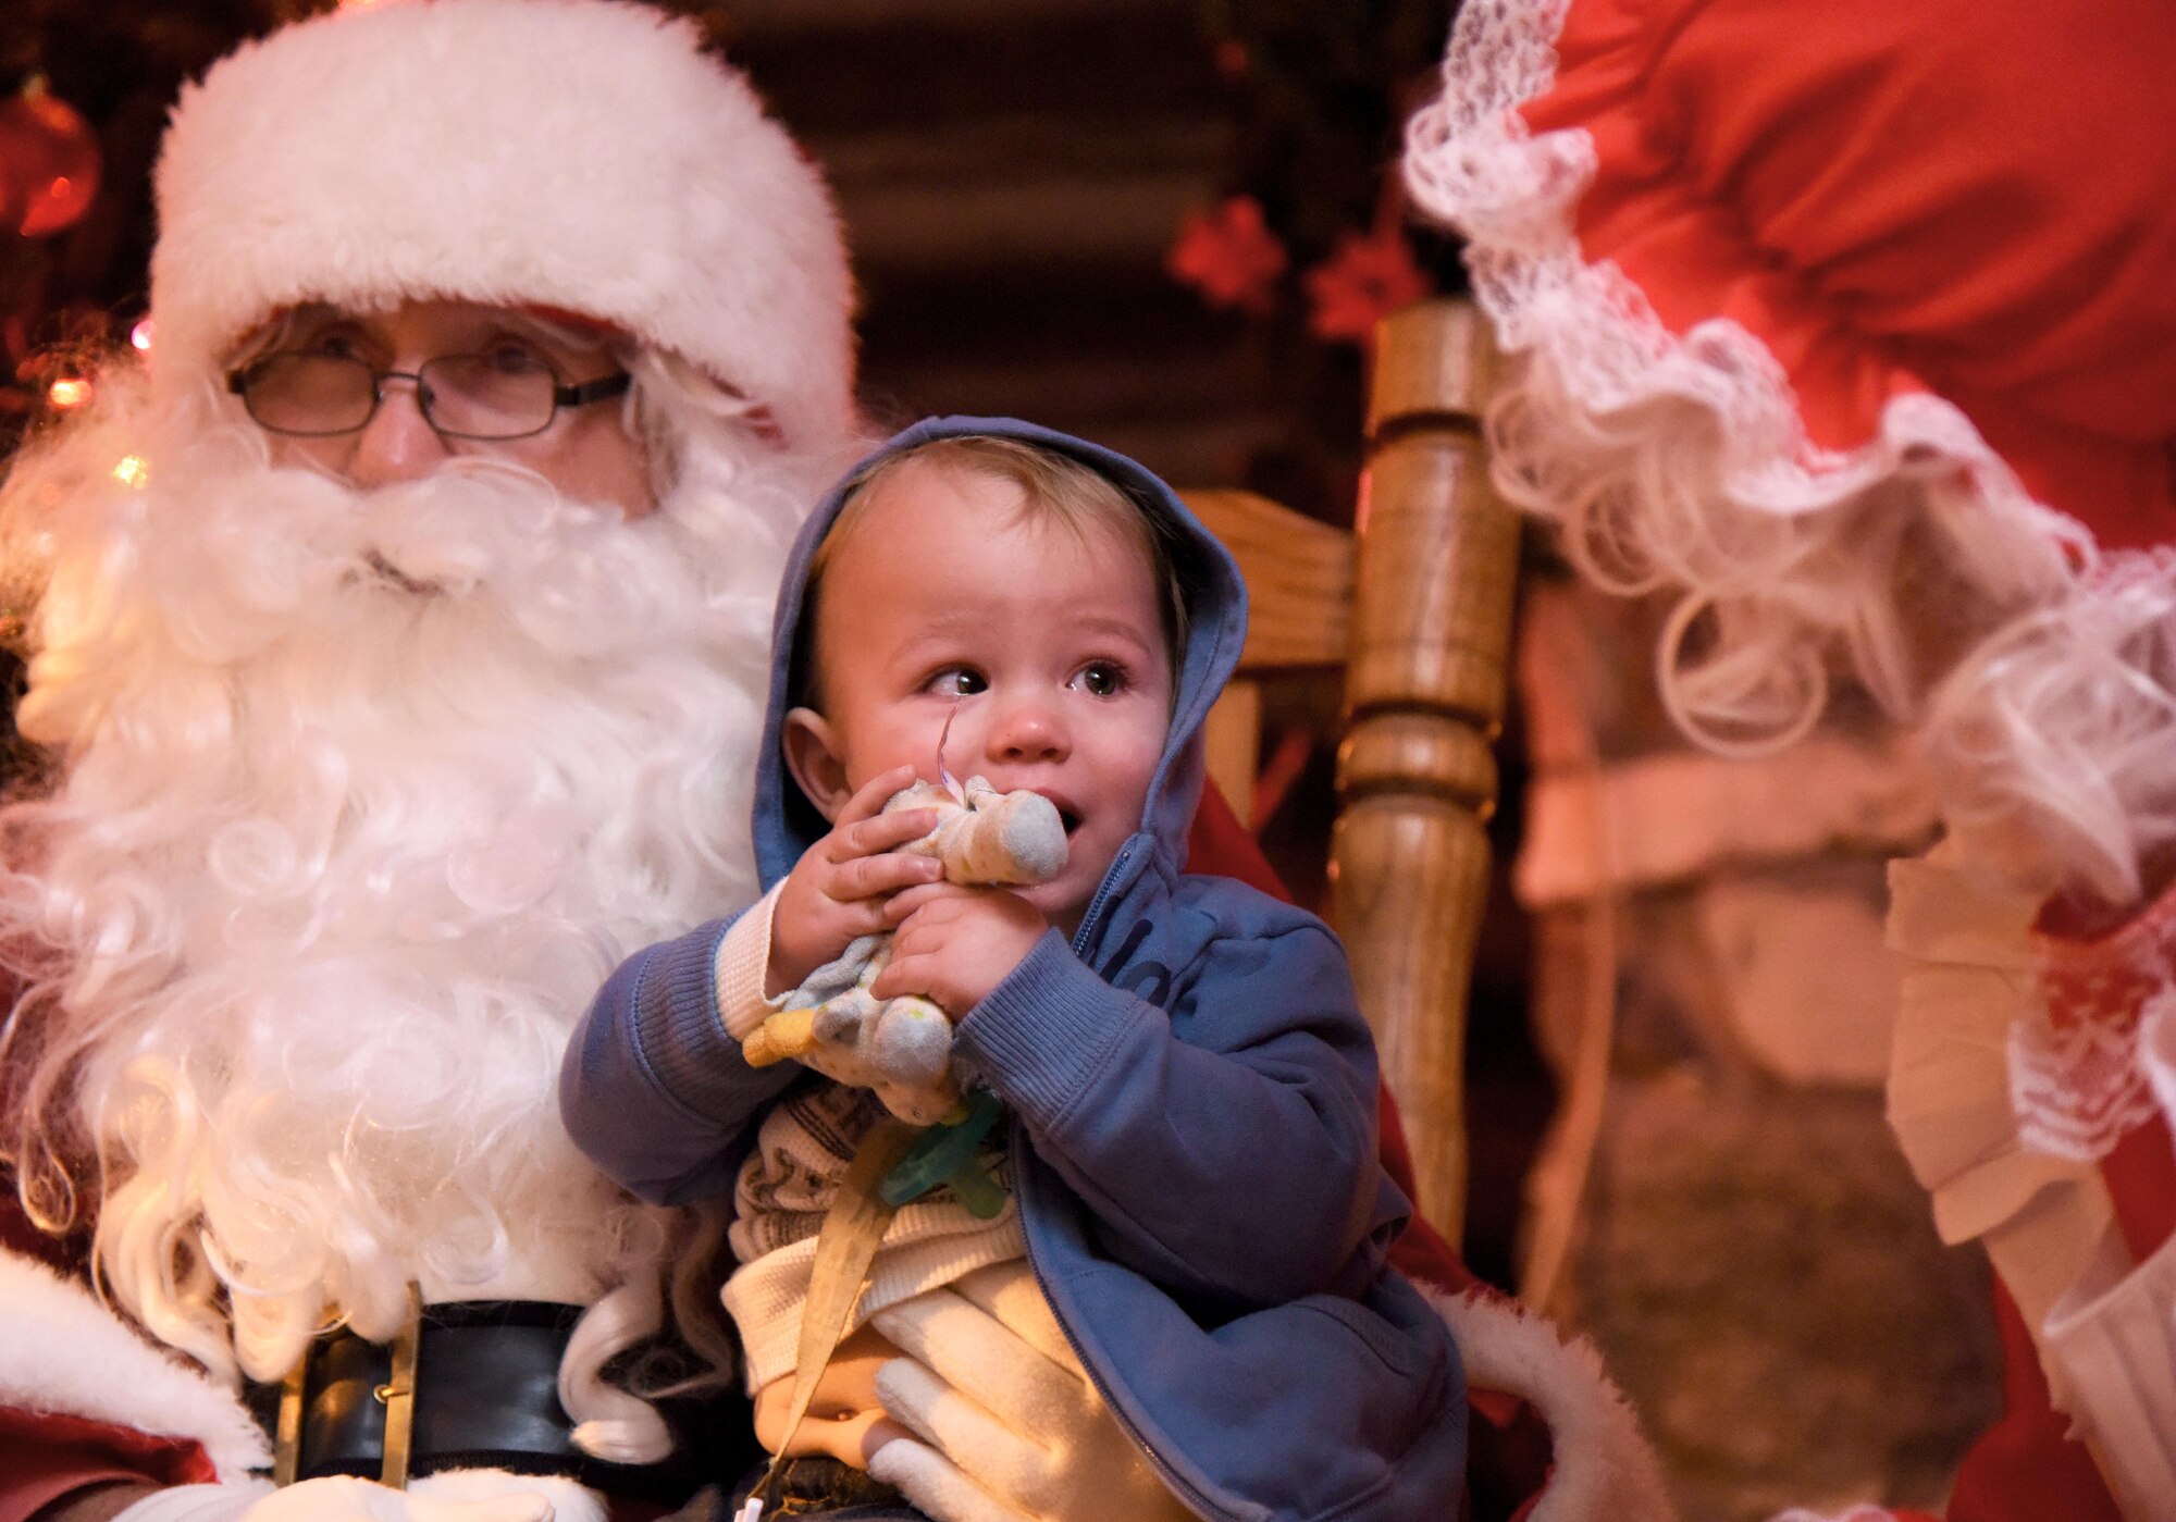
[[[938,826],[936,809],[883,813],[883,802],[912,781],[912,765],[894,765],[862,783],[831,820],[831,833],[801,852],[786,874],[770,915],[764,994],[777,998],[799,987],[857,935],[888,928],[883,905],[892,894],[944,874],[936,859],[897,850]]]

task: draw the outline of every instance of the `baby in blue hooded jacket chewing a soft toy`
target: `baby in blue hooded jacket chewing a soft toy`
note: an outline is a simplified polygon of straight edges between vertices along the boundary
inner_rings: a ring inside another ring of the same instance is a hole
[[[886,1385],[888,1409],[877,1370],[901,1357],[888,1318],[973,1283],[1047,1302],[1101,1396],[1092,1420],[1173,1515],[1449,1515],[1458,1355],[1384,1265],[1406,1200],[1377,1165],[1343,950],[1312,915],[1184,872],[1201,724],[1245,637],[1225,550],[1118,454],[936,420],[849,476],[796,567],[757,778],[770,891],[633,957],[561,1089],[574,1139],[635,1194],[731,1196],[725,1302],[757,1435],[788,1439],[816,1233],[881,1107],[792,1061],[753,1068],[740,1041],[851,941],[894,931],[870,994],[955,1020],[957,1076],[1007,1118],[1005,1200],[899,1209],[792,1450],[894,1481],[897,1515],[918,1515],[907,1498],[942,1513],[936,1418],[899,1394],[912,1381]],[[940,768],[1049,798],[1064,870],[970,887],[901,852],[936,818],[883,802]],[[840,1509],[868,1505],[864,1485]]]

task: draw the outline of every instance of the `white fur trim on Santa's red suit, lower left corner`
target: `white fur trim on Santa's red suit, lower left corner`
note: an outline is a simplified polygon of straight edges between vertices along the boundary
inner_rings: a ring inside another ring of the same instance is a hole
[[[148,1344],[81,1285],[0,1250],[0,1407],[200,1444],[222,1481],[272,1461],[242,1402]]]

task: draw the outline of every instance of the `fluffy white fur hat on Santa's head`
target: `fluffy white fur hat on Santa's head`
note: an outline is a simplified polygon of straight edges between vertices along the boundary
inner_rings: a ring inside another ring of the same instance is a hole
[[[823,178],[692,22],[620,0],[381,0],[183,91],[159,157],[161,394],[320,300],[581,313],[768,407],[853,413],[853,287]]]

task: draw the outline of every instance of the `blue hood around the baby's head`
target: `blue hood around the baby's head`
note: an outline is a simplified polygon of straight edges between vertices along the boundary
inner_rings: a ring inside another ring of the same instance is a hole
[[[1201,520],[1186,511],[1171,487],[1125,454],[1012,417],[929,417],[886,441],[825,496],[803,524],[786,567],[786,581],[779,585],[779,607],[772,622],[770,707],[764,713],[764,748],[757,754],[755,774],[755,865],[766,891],[792,870],[803,850],[831,828],[786,770],[781,744],[790,707],[788,691],[805,635],[801,613],[807,600],[809,559],[838,520],[853,485],[873,465],[918,444],[966,435],[1018,439],[1066,454],[1116,483],[1142,513],[1173,528],[1173,563],[1188,617],[1186,650],[1179,659],[1164,754],[1149,783],[1136,841],[1147,835],[1153,841],[1153,859],[1171,874],[1186,865],[1186,831],[1192,824],[1203,778],[1201,726],[1210,704],[1216,702],[1232,676],[1232,668],[1238,665],[1238,652],[1247,639],[1247,585],[1240,581],[1238,565],[1201,526]],[[1125,854],[1134,854],[1132,841]]]

